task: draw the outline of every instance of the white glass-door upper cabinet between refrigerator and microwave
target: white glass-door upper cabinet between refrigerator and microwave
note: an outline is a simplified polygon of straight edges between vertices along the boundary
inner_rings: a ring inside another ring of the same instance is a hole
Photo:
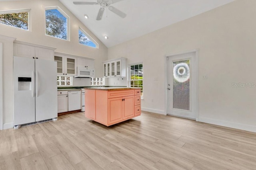
[[[76,60],[76,57],[55,54],[54,61],[57,62],[57,74],[76,76]]]

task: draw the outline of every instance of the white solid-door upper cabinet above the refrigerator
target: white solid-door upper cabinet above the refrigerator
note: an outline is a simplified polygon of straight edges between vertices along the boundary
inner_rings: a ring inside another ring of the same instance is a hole
[[[18,57],[54,60],[55,48],[15,41],[13,55]]]

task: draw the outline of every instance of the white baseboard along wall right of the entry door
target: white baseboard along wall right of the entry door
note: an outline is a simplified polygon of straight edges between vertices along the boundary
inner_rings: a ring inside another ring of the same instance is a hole
[[[210,123],[210,124],[214,124],[214,125],[231,127],[234,129],[240,129],[240,130],[244,130],[244,131],[256,132],[256,126],[253,126],[253,125],[245,125],[245,124],[223,121],[223,120],[218,120],[218,119],[209,119],[206,117],[199,117],[198,121],[204,122],[204,123]]]

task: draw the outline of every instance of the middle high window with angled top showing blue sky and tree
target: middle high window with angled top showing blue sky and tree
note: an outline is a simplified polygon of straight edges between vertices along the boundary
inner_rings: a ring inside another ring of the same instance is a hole
[[[45,8],[45,34],[69,40],[69,17],[58,7]]]

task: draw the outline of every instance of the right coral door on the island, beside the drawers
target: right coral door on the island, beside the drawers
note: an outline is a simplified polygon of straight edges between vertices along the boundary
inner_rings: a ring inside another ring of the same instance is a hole
[[[134,117],[134,96],[124,97],[124,119]]]

